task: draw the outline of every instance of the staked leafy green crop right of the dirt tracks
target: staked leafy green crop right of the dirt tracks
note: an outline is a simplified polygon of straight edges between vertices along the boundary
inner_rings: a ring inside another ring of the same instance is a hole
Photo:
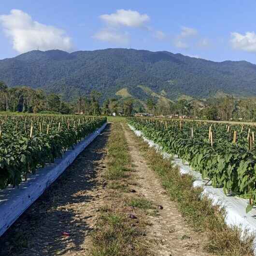
[[[209,178],[214,187],[256,200],[255,128],[198,121],[130,118],[128,123]]]

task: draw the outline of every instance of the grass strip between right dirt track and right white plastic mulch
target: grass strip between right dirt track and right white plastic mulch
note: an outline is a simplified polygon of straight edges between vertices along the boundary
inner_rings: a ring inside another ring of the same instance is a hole
[[[225,223],[225,211],[218,206],[212,206],[211,200],[201,197],[201,188],[193,188],[193,178],[181,175],[179,168],[174,167],[170,160],[163,159],[153,148],[150,148],[141,138],[140,149],[148,159],[150,168],[158,173],[164,188],[171,200],[178,204],[179,211],[186,222],[197,231],[207,234],[208,241],[205,250],[217,256],[253,256],[252,245],[254,237],[241,237],[239,228],[228,227]]]

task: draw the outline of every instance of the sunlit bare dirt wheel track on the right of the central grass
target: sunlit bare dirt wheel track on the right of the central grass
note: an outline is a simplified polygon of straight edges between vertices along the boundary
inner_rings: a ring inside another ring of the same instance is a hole
[[[155,241],[150,244],[154,255],[209,256],[202,248],[205,241],[203,234],[194,232],[185,224],[176,203],[170,200],[156,173],[147,166],[132,132],[126,125],[123,125],[123,128],[139,184],[135,187],[136,191],[156,205],[163,206],[163,209],[159,210],[159,216],[149,216],[153,226],[148,229],[147,238],[149,243]]]

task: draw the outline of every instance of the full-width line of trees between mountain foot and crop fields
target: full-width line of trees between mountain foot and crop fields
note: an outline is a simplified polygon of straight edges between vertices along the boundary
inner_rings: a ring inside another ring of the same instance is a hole
[[[42,89],[28,86],[8,87],[0,82],[0,111],[23,113],[60,113],[85,115],[125,115],[147,112],[154,115],[192,115],[208,120],[246,120],[256,121],[256,99],[235,98],[224,95],[205,100],[180,99],[169,103],[149,98],[136,105],[131,97],[110,98],[101,101],[98,91],[79,96],[77,100],[66,102],[57,94],[47,94]],[[138,101],[138,100],[137,100]]]

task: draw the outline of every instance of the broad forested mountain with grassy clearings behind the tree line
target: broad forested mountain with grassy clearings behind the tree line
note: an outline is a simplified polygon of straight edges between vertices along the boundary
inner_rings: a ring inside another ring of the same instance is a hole
[[[71,100],[97,90],[107,97],[170,101],[218,93],[256,96],[256,65],[134,49],[67,53],[31,51],[0,60],[0,81],[61,94]]]

